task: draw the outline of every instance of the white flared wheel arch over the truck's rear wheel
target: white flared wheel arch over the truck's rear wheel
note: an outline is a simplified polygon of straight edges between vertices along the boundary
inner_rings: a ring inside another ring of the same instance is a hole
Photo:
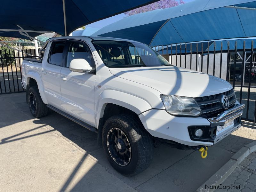
[[[47,99],[44,95],[44,87],[43,87],[43,82],[42,82],[42,78],[41,78],[40,74],[37,71],[32,71],[32,70],[28,71],[27,76],[26,76],[26,84],[27,85],[29,84],[30,78],[33,78],[36,80],[40,96],[41,96],[43,102],[45,104],[48,104]]]

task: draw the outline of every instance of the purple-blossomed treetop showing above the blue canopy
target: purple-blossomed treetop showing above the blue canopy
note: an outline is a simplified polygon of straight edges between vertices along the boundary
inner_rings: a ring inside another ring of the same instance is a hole
[[[180,0],[180,2],[178,2],[176,0],[160,0],[155,3],[148,4],[143,7],[139,7],[137,9],[133,9],[131,11],[125,12],[124,14],[127,16],[131,16],[138,13],[153,11],[156,9],[165,9],[169,7],[175,7],[175,6],[178,6],[179,4],[184,4],[184,1]]]

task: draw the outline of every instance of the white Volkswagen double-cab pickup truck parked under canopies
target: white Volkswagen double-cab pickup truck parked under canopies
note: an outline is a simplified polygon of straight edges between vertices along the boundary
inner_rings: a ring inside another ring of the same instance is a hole
[[[97,132],[122,174],[146,169],[162,142],[204,151],[241,127],[244,104],[227,81],[175,67],[145,44],[65,36],[40,54],[22,63],[32,115],[50,108]]]

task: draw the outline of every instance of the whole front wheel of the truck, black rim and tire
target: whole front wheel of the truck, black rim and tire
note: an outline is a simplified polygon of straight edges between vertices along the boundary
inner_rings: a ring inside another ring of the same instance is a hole
[[[137,116],[112,116],[102,131],[104,151],[116,171],[133,176],[151,163],[153,142]]]

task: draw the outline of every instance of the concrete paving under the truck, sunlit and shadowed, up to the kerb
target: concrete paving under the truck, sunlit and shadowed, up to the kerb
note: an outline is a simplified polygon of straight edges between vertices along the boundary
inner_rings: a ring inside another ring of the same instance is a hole
[[[147,170],[127,178],[110,166],[96,133],[55,112],[34,118],[25,93],[0,95],[0,106],[0,191],[195,191],[256,139],[245,122],[205,159],[161,145]]]

